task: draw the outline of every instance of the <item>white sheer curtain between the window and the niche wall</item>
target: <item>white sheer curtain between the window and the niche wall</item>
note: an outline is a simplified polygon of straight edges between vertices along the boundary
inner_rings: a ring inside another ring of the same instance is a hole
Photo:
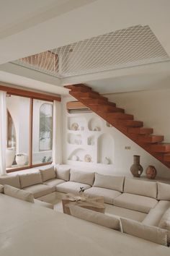
[[[53,164],[62,163],[61,102],[53,101]]]

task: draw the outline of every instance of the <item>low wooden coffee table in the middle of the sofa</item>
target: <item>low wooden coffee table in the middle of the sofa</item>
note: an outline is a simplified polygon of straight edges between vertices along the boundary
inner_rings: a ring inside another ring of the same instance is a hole
[[[71,215],[70,205],[78,205],[82,208],[95,210],[99,213],[104,213],[104,197],[81,197],[73,194],[67,194],[62,199],[63,213]]]

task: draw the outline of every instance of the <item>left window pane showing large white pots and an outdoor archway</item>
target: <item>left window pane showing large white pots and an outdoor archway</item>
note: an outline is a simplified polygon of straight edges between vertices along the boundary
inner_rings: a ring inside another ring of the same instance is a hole
[[[6,169],[29,162],[30,99],[15,95],[6,98]]]

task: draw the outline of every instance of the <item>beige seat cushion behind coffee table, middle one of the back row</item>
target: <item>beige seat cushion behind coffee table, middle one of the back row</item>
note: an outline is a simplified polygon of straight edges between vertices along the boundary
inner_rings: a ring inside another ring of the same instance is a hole
[[[121,195],[120,192],[112,189],[104,189],[102,187],[91,187],[86,189],[84,194],[89,195],[90,197],[104,197],[104,202],[113,204],[113,199],[118,195]]]

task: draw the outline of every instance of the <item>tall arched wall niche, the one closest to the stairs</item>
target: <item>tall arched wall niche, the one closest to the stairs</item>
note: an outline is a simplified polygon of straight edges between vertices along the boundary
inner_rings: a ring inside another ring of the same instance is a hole
[[[100,135],[97,140],[97,162],[112,164],[114,161],[115,143],[111,135]]]

